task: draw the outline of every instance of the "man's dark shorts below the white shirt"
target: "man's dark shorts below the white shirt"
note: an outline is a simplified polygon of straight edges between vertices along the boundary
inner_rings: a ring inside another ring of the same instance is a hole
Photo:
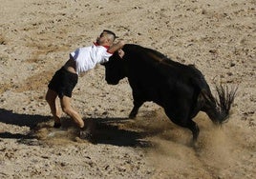
[[[62,98],[64,95],[72,97],[72,91],[75,88],[77,80],[77,74],[65,70],[62,67],[54,73],[48,88],[54,90],[59,98]]]

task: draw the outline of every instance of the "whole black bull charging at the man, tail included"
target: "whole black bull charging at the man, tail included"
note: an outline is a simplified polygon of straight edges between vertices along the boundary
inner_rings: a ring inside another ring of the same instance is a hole
[[[199,127],[192,120],[199,111],[207,113],[214,124],[223,124],[234,101],[236,89],[216,86],[218,100],[213,97],[203,74],[192,65],[174,62],[157,50],[127,44],[121,59],[117,52],[105,66],[108,84],[117,85],[127,77],[133,89],[134,108],[129,117],[135,118],[146,101],[160,105],[170,120],[193,133],[196,142]]]

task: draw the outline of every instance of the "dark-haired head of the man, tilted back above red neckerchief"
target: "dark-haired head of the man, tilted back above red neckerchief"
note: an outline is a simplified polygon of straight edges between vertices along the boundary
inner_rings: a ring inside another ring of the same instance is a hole
[[[96,38],[96,43],[100,46],[111,46],[116,38],[117,36],[113,31],[103,30]]]

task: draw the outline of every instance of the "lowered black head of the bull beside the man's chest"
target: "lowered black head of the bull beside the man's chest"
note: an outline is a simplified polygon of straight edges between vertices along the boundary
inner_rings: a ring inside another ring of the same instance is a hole
[[[124,78],[124,60],[120,58],[117,51],[110,57],[109,61],[102,64],[105,66],[105,80],[110,85],[117,85],[119,80]]]

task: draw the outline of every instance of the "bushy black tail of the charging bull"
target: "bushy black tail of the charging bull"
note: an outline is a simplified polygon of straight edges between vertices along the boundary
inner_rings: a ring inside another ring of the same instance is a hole
[[[227,122],[237,89],[228,89],[227,86],[224,88],[222,85],[216,85],[216,98],[212,96],[211,92],[204,91],[201,93],[204,99],[203,111],[207,113],[214,124],[221,125]]]

